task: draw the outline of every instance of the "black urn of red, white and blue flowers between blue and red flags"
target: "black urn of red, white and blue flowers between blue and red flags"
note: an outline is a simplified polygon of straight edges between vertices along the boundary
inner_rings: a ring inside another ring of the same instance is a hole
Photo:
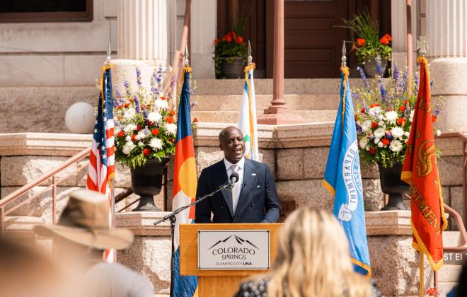
[[[419,76],[408,76],[407,66],[400,71],[394,62],[392,77],[384,80],[378,57],[378,79],[369,80],[362,68],[357,69],[363,78],[363,88],[352,88],[352,98],[356,102],[360,159],[363,163],[379,166],[381,190],[389,195],[388,204],[382,210],[405,209],[403,194],[408,193],[410,186],[400,180],[400,173],[413,120]],[[411,81],[410,86],[408,81]],[[441,103],[438,98],[432,107],[433,122],[439,116]],[[439,134],[439,131],[435,133]]]

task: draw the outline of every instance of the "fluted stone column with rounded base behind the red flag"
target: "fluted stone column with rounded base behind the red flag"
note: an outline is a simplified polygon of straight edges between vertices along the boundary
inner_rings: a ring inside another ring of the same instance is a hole
[[[428,57],[434,86],[444,104],[437,128],[467,132],[467,4],[463,0],[427,1]]]

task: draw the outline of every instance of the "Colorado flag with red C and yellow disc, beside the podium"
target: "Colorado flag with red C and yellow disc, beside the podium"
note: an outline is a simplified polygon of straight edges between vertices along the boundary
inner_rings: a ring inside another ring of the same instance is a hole
[[[173,168],[173,210],[194,202],[196,196],[195,147],[193,146],[190,117],[190,72],[190,67],[183,68],[184,78],[180,93],[180,105],[178,105],[177,139]],[[197,276],[180,276],[180,250],[178,247],[180,245],[180,223],[191,223],[195,219],[195,207],[192,206],[190,209],[181,211],[176,217],[173,296],[191,297],[197,289]]]

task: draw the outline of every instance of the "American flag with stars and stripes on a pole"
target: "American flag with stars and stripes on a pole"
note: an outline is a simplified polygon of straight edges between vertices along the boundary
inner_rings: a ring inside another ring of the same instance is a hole
[[[104,66],[100,80],[98,115],[94,125],[93,145],[89,156],[88,178],[86,187],[105,194],[109,202],[109,226],[113,223],[113,193],[110,187],[115,176],[115,146],[113,136],[113,98],[110,66]],[[115,250],[105,250],[104,258],[115,261]]]

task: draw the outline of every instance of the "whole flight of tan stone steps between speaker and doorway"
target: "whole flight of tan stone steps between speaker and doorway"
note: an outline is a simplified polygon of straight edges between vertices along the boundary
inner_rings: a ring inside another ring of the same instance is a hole
[[[361,80],[351,79],[352,86],[361,86]],[[240,115],[243,80],[195,81],[191,101],[192,117],[200,122],[237,123]],[[295,115],[308,122],[333,122],[339,105],[340,78],[286,79],[284,99]],[[272,79],[255,80],[257,115],[269,107],[272,100]],[[222,114],[219,114],[219,111]]]

